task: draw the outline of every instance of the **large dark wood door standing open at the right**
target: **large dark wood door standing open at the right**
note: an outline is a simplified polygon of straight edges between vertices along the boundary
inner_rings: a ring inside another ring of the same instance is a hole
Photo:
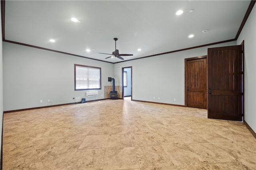
[[[242,45],[208,49],[208,118],[243,120]]]

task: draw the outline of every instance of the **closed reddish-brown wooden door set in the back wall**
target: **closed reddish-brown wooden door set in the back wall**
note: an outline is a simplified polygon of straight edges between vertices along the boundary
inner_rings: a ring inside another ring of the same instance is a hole
[[[188,107],[207,108],[207,63],[206,57],[185,60],[186,101]]]

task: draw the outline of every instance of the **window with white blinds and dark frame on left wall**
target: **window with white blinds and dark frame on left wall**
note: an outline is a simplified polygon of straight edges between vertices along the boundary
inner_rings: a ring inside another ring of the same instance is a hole
[[[75,64],[75,90],[101,89],[101,68]]]

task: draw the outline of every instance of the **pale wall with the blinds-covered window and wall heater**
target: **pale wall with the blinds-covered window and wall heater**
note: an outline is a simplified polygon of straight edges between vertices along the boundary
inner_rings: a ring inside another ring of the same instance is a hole
[[[81,101],[85,90],[74,90],[74,64],[101,67],[102,89],[86,101],[103,99],[112,63],[3,42],[4,111],[49,106],[48,99],[52,105]]]

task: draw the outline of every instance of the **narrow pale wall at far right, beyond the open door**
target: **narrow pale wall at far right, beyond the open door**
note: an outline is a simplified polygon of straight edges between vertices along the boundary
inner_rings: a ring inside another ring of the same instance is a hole
[[[244,40],[244,120],[256,133],[256,5],[237,39]]]

